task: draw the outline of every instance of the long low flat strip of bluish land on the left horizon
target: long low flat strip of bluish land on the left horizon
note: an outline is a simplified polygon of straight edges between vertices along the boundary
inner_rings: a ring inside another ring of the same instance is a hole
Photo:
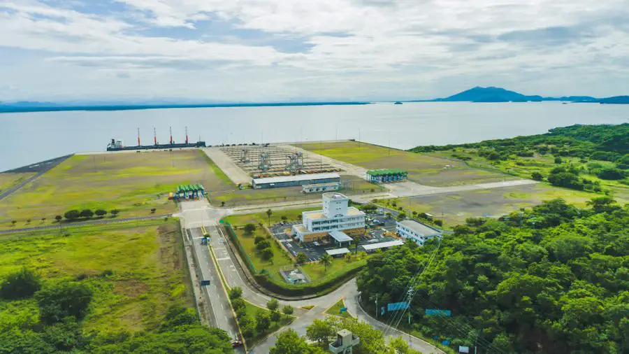
[[[279,106],[348,106],[370,102],[277,102],[277,103],[222,103],[222,104],[55,104],[51,102],[0,102],[0,113],[59,112],[59,111],[129,111],[159,108],[214,108],[214,107],[279,107]]]

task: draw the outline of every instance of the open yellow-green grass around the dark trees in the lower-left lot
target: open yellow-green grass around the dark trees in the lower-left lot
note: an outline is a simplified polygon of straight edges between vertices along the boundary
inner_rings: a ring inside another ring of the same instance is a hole
[[[168,306],[192,305],[179,222],[173,219],[0,238],[0,277],[22,266],[45,282],[74,278],[92,288],[85,333],[154,330]],[[0,302],[0,330],[37,322],[33,299]]]

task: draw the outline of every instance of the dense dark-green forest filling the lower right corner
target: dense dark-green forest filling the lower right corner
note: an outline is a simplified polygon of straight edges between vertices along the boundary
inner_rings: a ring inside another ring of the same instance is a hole
[[[381,253],[357,278],[363,304],[374,311],[376,299],[403,301],[412,284],[412,330],[452,346],[629,353],[629,206],[610,197],[588,206],[544,201],[499,220],[470,218],[424,247]]]

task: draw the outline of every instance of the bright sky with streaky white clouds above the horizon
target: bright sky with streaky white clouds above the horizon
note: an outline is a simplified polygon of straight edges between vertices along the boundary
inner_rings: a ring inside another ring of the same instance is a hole
[[[629,0],[0,0],[0,101],[629,94]]]

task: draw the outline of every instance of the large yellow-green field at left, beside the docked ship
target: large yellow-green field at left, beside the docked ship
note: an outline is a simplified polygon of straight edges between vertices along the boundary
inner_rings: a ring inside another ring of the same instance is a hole
[[[177,185],[225,187],[203,155],[197,150],[75,155],[0,201],[0,227],[11,220],[23,227],[29,218],[36,220],[29,226],[38,226],[41,218],[50,223],[70,209],[117,208],[122,218],[149,215],[151,208],[171,213],[177,206],[168,192]]]

